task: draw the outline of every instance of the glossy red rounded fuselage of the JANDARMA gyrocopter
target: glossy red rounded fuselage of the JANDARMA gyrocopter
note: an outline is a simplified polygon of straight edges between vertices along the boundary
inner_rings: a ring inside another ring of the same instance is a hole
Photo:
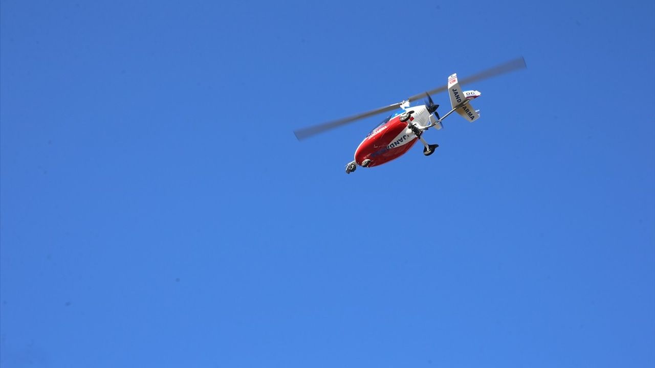
[[[402,156],[416,141],[417,137],[407,129],[407,122],[400,121],[400,115],[396,115],[364,138],[355,151],[355,161],[362,165],[364,160],[371,160],[367,167],[378,166]]]

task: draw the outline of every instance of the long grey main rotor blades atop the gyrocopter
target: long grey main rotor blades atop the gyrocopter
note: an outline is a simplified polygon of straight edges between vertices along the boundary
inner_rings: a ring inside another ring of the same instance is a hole
[[[480,73],[471,75],[470,77],[462,78],[459,80],[459,83],[461,84],[468,84],[468,83],[473,83],[477,81],[482,81],[483,79],[491,78],[491,77],[496,77],[496,75],[501,75],[505,73],[510,73],[510,71],[515,71],[518,69],[524,69],[525,68],[525,59],[523,59],[523,56],[520,58],[515,58],[513,60],[510,60],[508,62],[505,62],[500,65],[496,65],[495,67],[491,67],[487,70],[481,71]],[[432,98],[430,98],[431,94],[438,94],[440,92],[443,92],[448,89],[448,86],[440,86],[437,88],[434,88],[432,90],[429,90],[427,92],[422,92],[420,94],[415,94],[414,96],[411,96],[410,98],[407,99],[409,102],[413,102],[416,100],[419,100],[420,98],[424,97],[424,94],[428,95],[428,100],[430,101],[430,105],[432,106],[437,106],[434,103],[432,103]],[[338,119],[338,120],[332,120],[328,122],[324,122],[322,124],[310,126],[308,128],[301,128],[298,130],[295,130],[293,134],[295,134],[295,137],[298,138],[298,140],[309,138],[311,136],[315,136],[316,134],[326,132],[327,130],[331,130],[334,128],[337,128],[339,126],[348,124],[350,122],[354,122],[356,120],[360,119],[365,119],[367,117],[372,117],[373,115],[378,115],[381,113],[386,113],[387,111],[394,111],[398,109],[402,105],[402,102],[397,102],[392,105],[388,106],[383,106],[383,107],[378,107],[377,109],[369,110],[364,113],[359,113],[356,115],[352,115],[350,117],[345,117],[343,119]],[[436,113],[436,107],[435,107],[435,113]],[[439,115],[437,115],[438,117]]]

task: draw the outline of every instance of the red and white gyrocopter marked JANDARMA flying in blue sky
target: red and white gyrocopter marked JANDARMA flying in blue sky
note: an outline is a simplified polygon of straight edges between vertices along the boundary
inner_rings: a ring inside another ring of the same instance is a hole
[[[366,111],[365,113],[295,130],[294,134],[299,140],[305,139],[356,120],[393,111],[391,115],[384,118],[378,126],[373,128],[362,143],[360,143],[359,147],[357,147],[355,150],[355,159],[346,165],[346,174],[354,172],[357,166],[372,168],[373,166],[379,166],[390,160],[394,160],[394,158],[398,158],[409,151],[416,141],[421,141],[423,144],[423,155],[430,156],[439,145],[429,144],[425,141],[422,135],[426,130],[433,127],[440,130],[443,128],[443,119],[452,113],[457,113],[470,122],[474,122],[480,117],[479,110],[472,107],[471,100],[481,96],[481,93],[477,90],[464,91],[460,88],[460,83],[468,84],[481,81],[523,68],[525,68],[525,60],[521,57],[497,65],[476,75],[463,78],[461,81],[458,80],[457,74],[453,74],[448,77],[446,86],[434,88],[427,92],[411,96],[402,102]],[[443,117],[440,117],[437,112],[439,105],[432,101],[430,95],[445,90],[448,90],[450,96],[451,110],[443,115]],[[423,98],[425,99],[423,105],[411,106],[411,103]]]

